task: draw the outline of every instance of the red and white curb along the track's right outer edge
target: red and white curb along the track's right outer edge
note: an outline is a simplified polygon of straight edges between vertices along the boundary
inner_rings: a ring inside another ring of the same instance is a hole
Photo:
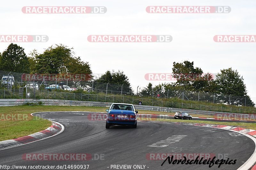
[[[256,130],[252,129],[244,129],[241,127],[236,127],[236,126],[228,126],[228,125],[214,125],[214,124],[204,124],[204,123],[184,123],[184,122],[172,122],[174,124],[179,124],[179,125],[190,125],[190,126],[202,126],[202,127],[208,127],[208,128],[217,128],[217,129],[225,129],[225,130],[230,130],[233,132],[237,132],[239,134],[242,134],[246,137],[249,137],[250,139],[253,140],[256,146]],[[238,170],[255,170],[256,165],[256,147],[254,149],[254,152],[252,156],[242,165],[238,168]]]

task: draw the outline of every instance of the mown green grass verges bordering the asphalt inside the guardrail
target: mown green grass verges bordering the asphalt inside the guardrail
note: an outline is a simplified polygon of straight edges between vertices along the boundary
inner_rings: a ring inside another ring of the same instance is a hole
[[[0,141],[14,139],[38,131],[44,130],[51,126],[51,122],[45,119],[35,119],[31,116],[34,112],[46,112],[46,111],[91,111],[91,112],[106,112],[108,107],[85,107],[85,106],[41,106],[41,105],[23,105],[23,106],[10,106],[10,107],[0,107],[0,114],[26,114],[28,116],[27,120],[17,120],[17,121],[3,121],[0,120]],[[157,114],[157,115],[173,115],[170,112],[158,112],[158,111],[147,111],[138,110],[139,114]],[[192,115],[204,117],[208,115]],[[220,124],[220,125],[230,125],[239,126],[248,129],[256,130],[256,123],[236,123],[236,122],[210,122],[210,121],[195,121],[195,120],[172,120],[172,119],[158,119],[158,121],[167,122],[191,122],[191,123],[208,123],[208,124]]]

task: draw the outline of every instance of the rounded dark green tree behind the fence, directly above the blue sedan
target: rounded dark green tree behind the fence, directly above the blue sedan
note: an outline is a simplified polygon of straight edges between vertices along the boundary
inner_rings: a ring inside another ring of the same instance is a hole
[[[108,84],[109,83],[109,84]],[[118,93],[122,91],[123,85],[123,92],[132,93],[132,87],[129,82],[128,77],[124,74],[123,71],[106,71],[99,79],[95,80],[95,88],[105,90],[108,84],[108,91],[116,91],[114,93]],[[112,92],[113,93],[113,92]]]

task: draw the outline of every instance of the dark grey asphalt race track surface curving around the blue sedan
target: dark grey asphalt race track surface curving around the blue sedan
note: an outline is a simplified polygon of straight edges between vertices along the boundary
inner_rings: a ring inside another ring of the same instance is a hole
[[[90,114],[93,112],[34,114],[63,124],[65,130],[55,137],[0,150],[0,165],[51,165],[55,167],[58,165],[90,165],[89,169],[102,170],[114,169],[111,168],[111,165],[131,165],[132,167],[144,165],[148,170],[237,169],[250,158],[255,149],[255,144],[250,138],[224,129],[150,121],[138,122],[136,129],[128,126],[113,126],[110,129],[105,129],[105,120],[93,121]],[[171,142],[168,139],[171,139]],[[157,146],[155,145],[157,142],[158,144],[159,142],[165,143],[167,146],[152,147]],[[92,159],[86,161],[22,159],[22,155],[27,153],[88,153],[88,155],[92,155]],[[236,159],[236,164],[223,164],[220,168],[218,165],[213,165],[209,168],[209,165],[173,165],[166,161],[161,166],[166,157],[162,160],[152,159],[159,159],[157,156],[163,155],[163,153],[182,155],[201,153],[211,155],[211,157],[216,156],[216,159],[223,157],[226,160]],[[150,154],[151,157],[148,156]],[[100,155],[101,160],[98,159]]]

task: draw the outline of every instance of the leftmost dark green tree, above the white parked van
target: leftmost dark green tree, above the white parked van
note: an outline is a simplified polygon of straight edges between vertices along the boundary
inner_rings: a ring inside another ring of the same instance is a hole
[[[24,48],[11,43],[0,56],[0,70],[29,73],[30,65]]]

